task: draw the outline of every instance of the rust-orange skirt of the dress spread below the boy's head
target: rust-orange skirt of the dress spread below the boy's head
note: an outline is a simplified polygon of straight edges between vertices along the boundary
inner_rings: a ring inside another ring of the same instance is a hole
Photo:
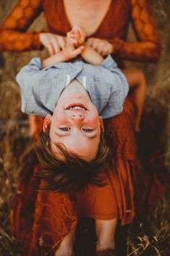
[[[135,132],[134,106],[129,99],[125,110],[105,120],[106,140],[112,148],[112,163],[104,171],[107,186],[89,186],[88,190],[71,197],[40,191],[33,173],[39,171],[36,159],[24,170],[17,189],[12,216],[12,233],[24,255],[54,255],[63,236],[74,229],[81,216],[99,219],[120,218],[122,225],[134,216]],[[39,124],[41,119],[38,120]],[[33,166],[36,166],[35,169]],[[36,197],[37,196],[37,197]],[[75,200],[76,199],[76,200]],[[26,241],[26,242],[25,242]]]

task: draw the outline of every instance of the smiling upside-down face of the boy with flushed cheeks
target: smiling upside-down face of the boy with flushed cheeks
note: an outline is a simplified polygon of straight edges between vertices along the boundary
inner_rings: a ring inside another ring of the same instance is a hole
[[[64,91],[63,91],[64,92]],[[87,161],[95,158],[99,146],[100,124],[97,108],[91,103],[87,93],[68,90],[62,93],[55,107],[53,116],[46,116],[51,121],[50,140],[53,152],[57,153],[56,143]]]

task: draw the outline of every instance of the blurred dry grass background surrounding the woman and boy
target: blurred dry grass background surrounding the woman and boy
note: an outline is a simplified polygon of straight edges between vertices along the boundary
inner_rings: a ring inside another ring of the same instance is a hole
[[[146,155],[154,151],[157,171],[161,168],[166,169],[168,178],[170,166],[170,2],[168,0],[149,1],[161,33],[163,47],[161,60],[152,64],[126,61],[126,65],[139,67],[146,74],[148,88],[140,145],[146,148]],[[15,4],[17,0],[0,0],[0,23]],[[45,18],[41,14],[30,30],[39,31],[44,28]],[[131,27],[128,39],[135,40]],[[20,255],[10,234],[9,220],[17,181],[24,166],[27,166],[26,156],[32,149],[32,141],[28,135],[27,116],[20,111],[20,92],[15,76],[32,57],[44,57],[47,54],[45,50],[22,54],[7,52],[0,54],[0,255],[3,256]],[[141,158],[144,159],[145,156]],[[128,228],[127,255],[169,255],[169,215],[169,196],[166,194],[158,202],[154,215],[147,216],[146,223],[134,221]]]

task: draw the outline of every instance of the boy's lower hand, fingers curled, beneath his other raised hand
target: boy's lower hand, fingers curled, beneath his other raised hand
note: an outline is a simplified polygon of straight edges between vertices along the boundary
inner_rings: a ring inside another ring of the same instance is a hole
[[[73,33],[67,33],[67,43],[65,48],[63,48],[63,55],[67,60],[75,58],[84,51],[84,46],[77,46],[79,46],[79,43],[78,40],[73,37]]]

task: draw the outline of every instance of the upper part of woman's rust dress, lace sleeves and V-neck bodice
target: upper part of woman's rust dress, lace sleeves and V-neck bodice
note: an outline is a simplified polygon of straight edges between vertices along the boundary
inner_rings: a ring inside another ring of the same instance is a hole
[[[42,11],[51,33],[66,35],[71,30],[63,1],[20,0],[0,27],[0,51],[40,49],[39,33],[24,32]],[[130,21],[138,40],[135,43],[125,41]],[[109,40],[118,59],[153,61],[160,56],[160,37],[147,0],[112,0],[104,20],[91,36]]]

